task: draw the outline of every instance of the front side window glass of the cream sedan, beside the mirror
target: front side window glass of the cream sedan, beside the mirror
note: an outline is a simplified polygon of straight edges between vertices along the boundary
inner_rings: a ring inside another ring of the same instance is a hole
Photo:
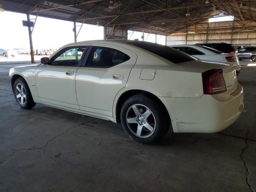
[[[86,51],[86,46],[78,46],[72,48],[64,48],[51,60],[51,65],[54,66],[79,66],[79,62],[83,53]]]

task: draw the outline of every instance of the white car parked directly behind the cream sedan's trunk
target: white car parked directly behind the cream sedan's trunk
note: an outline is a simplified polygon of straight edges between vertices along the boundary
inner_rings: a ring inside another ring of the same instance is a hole
[[[171,46],[179,51],[190,54],[201,60],[227,62],[230,65],[234,65],[236,74],[240,74],[240,65],[236,57],[236,54],[223,53],[216,49],[209,48],[202,45],[173,45]]]

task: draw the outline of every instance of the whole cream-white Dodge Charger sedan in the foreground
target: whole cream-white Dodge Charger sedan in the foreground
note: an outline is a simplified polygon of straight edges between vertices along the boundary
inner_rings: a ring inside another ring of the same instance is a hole
[[[74,49],[77,54],[63,54]],[[10,76],[21,108],[40,103],[121,122],[130,138],[143,143],[159,140],[170,127],[221,131],[244,108],[234,66],[148,42],[72,43],[41,64],[10,69]]]

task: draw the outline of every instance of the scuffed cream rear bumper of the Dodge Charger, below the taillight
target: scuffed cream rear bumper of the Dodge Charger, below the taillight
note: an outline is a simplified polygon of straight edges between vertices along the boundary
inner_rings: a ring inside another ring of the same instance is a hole
[[[201,98],[160,98],[167,105],[174,132],[215,133],[230,126],[243,108],[243,88],[233,94]]]

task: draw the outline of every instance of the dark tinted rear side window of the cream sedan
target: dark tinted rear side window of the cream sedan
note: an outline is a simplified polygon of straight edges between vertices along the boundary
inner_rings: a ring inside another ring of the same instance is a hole
[[[92,47],[86,63],[87,67],[108,68],[129,60],[123,52],[108,47]]]

